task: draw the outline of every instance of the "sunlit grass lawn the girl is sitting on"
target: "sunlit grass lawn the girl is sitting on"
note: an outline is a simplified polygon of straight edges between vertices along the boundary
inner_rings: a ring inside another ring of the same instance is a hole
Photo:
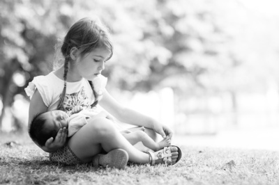
[[[0,133],[0,184],[279,184],[279,152],[186,146],[181,150],[181,161],[168,167],[63,166],[50,162],[27,135]]]

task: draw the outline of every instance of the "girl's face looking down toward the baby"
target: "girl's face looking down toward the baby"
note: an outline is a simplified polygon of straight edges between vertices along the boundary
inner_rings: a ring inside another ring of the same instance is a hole
[[[105,61],[110,57],[110,51],[104,47],[96,48],[85,54],[83,57],[78,56],[73,72],[78,78],[93,80],[105,70]]]

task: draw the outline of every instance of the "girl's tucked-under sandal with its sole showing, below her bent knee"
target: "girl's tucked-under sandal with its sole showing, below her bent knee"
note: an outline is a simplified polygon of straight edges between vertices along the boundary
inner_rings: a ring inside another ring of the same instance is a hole
[[[103,166],[104,168],[124,168],[128,163],[128,153],[122,149],[114,149],[107,154],[97,154],[93,156],[94,167]]]

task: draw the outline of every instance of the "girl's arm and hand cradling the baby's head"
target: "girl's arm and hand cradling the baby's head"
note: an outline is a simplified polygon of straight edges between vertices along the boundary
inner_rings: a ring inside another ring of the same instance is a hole
[[[45,106],[42,97],[40,96],[40,93],[38,90],[35,90],[35,93],[33,94],[30,105],[29,105],[29,121],[28,121],[28,128],[31,125],[31,121],[33,120],[34,116],[39,113],[45,113],[47,111],[47,106]],[[45,143],[45,146],[40,146],[38,143],[38,147],[40,147],[45,152],[54,152],[58,150],[60,147],[62,147],[67,138],[67,130],[66,128],[60,129],[57,133],[55,138],[49,138],[47,142]]]

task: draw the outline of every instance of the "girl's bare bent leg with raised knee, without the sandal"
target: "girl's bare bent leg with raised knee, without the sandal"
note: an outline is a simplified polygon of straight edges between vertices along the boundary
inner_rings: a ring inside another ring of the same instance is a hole
[[[75,155],[84,162],[90,162],[92,157],[100,153],[101,147],[106,152],[120,148],[128,152],[129,161],[134,163],[149,163],[149,154],[140,152],[117,131],[113,123],[106,118],[89,120],[75,135],[68,145]],[[178,157],[176,147],[172,147],[172,159]],[[157,161],[162,162],[162,161]]]

